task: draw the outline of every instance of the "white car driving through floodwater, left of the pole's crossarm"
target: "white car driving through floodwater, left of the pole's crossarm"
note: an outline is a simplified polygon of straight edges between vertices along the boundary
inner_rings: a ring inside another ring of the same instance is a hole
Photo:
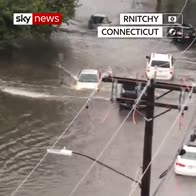
[[[76,89],[96,89],[101,78],[101,73],[95,69],[83,69],[77,78]]]

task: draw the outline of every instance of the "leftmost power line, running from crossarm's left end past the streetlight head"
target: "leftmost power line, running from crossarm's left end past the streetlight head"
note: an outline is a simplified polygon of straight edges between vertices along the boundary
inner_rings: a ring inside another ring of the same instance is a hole
[[[102,77],[98,82],[99,86],[102,82]],[[59,140],[63,137],[63,135],[68,131],[68,129],[72,126],[72,124],[75,122],[75,120],[78,118],[78,116],[81,114],[81,112],[86,108],[87,104],[89,103],[89,101],[91,100],[91,98],[97,93],[97,89],[93,90],[93,92],[91,92],[91,94],[89,95],[87,101],[84,103],[84,105],[81,107],[81,109],[78,111],[78,113],[75,115],[75,117],[72,119],[72,121],[69,123],[69,125],[66,127],[66,129],[63,131],[63,133],[57,138],[57,140],[55,141],[55,143],[53,144],[52,148],[54,148],[56,146],[56,144],[59,142]],[[14,192],[11,193],[11,196],[14,196],[19,189],[24,185],[24,183],[29,179],[29,177],[34,173],[34,171],[39,167],[39,165],[44,161],[44,159],[46,158],[46,156],[48,155],[48,152],[46,152],[46,154],[42,157],[42,159],[38,162],[38,164],[31,170],[31,172],[26,176],[26,178],[19,184],[19,186],[15,189]]]

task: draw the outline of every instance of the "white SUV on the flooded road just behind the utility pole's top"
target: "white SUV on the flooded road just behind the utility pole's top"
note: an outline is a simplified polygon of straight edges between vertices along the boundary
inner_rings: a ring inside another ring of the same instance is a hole
[[[174,77],[174,58],[171,54],[152,53],[146,56],[148,79],[171,80]]]

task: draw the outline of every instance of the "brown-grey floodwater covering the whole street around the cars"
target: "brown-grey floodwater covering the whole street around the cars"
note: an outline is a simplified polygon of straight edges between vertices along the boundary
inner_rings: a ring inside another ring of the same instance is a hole
[[[112,22],[118,23],[121,12],[133,10],[150,12],[156,11],[157,7],[155,0],[121,0],[115,3],[111,0],[107,2],[82,0],[81,4],[76,12],[76,20],[81,24],[81,30],[86,28],[92,13],[105,13]],[[187,6],[193,7],[195,3],[191,1]],[[191,13],[189,8],[185,9],[185,18],[190,23],[194,22],[194,9],[191,9]],[[103,69],[110,66],[114,75],[142,77],[145,56],[154,51],[172,53],[177,57],[176,82],[180,82],[183,77],[189,82],[196,76],[195,64],[192,63],[196,62],[195,48],[183,52],[186,46],[176,46],[170,40],[160,42],[153,39],[98,39],[95,33],[88,31],[87,33],[59,32],[53,35],[53,39],[66,46],[63,66],[73,76],[77,76],[83,68]],[[1,66],[0,195],[69,196],[92,164],[79,156],[47,155],[21,186],[21,182],[44,157],[46,149],[57,141],[81,109],[86,101],[82,97],[87,97],[91,93],[76,92],[73,86],[74,80],[65,70],[55,64],[36,68],[23,64],[12,67]],[[110,98],[109,91],[100,94]],[[178,102],[178,97],[172,94],[166,101],[168,100]],[[194,107],[193,101],[191,108],[185,114],[183,129],[179,129],[177,123],[166,145],[154,160],[152,191],[158,185],[159,175],[171,162],[187,127],[195,123],[192,120],[192,116],[195,115]],[[155,112],[160,111],[162,110],[157,108]],[[171,111],[156,119],[153,152],[160,145],[177,113],[178,111]],[[62,135],[56,147],[66,146],[70,150],[96,158],[125,116],[126,112],[119,113],[115,103],[92,100],[89,108],[84,109]],[[141,116],[136,116],[134,124],[130,116],[100,160],[122,173],[137,178],[141,175],[143,134],[144,120]],[[194,191],[192,183],[193,181],[188,183],[178,180],[180,187],[185,187],[181,195],[187,195],[187,191],[190,190]],[[165,186],[167,190],[167,183]],[[132,182],[129,180],[96,165],[73,195],[128,195],[131,187]],[[17,192],[14,192],[15,190]],[[170,190],[174,194],[177,193],[176,189]],[[134,196],[137,195],[139,189],[134,192]],[[168,193],[163,192],[163,195]]]

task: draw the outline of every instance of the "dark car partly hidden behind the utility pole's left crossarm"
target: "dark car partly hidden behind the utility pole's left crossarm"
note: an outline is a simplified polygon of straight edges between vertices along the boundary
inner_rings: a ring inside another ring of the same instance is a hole
[[[117,97],[116,100],[119,103],[119,109],[131,109],[133,106],[133,100],[136,100],[143,90],[145,84],[118,84],[117,87]],[[145,100],[146,95],[144,94],[141,100]],[[130,101],[132,100],[132,101]],[[145,104],[142,104],[142,101],[138,105],[138,108],[145,107]]]

